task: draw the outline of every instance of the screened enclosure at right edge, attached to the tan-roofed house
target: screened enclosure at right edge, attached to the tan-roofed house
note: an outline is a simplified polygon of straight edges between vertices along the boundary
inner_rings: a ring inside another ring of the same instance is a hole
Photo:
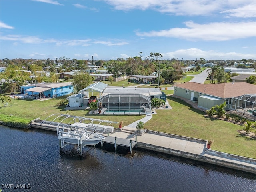
[[[231,109],[256,116],[256,94],[245,94],[232,98]]]

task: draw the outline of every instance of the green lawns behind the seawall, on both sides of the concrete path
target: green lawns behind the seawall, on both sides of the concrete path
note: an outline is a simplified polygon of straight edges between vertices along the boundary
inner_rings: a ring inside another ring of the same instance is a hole
[[[173,90],[164,90],[164,92],[166,94],[172,94]],[[240,136],[237,130],[243,129],[242,126],[213,118],[206,118],[204,112],[192,108],[182,100],[170,96],[167,98],[172,109],[157,109],[157,114],[153,114],[152,119],[145,123],[144,127],[146,129],[204,140],[213,140],[213,150],[256,158],[256,140]],[[3,104],[0,105],[1,119],[12,115],[33,120],[38,117],[45,119],[56,113],[66,114],[66,110],[64,110],[65,106],[55,106],[61,99],[63,98],[45,101],[30,99],[12,100],[8,107],[3,107]],[[144,117],[89,115],[88,110],[70,111],[70,114],[116,122],[124,121],[124,126]],[[118,128],[118,124],[115,124],[114,127]]]

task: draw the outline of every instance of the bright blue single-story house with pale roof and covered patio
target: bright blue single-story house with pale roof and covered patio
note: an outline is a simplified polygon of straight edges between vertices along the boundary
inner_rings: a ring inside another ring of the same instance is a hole
[[[74,91],[72,82],[66,83],[38,83],[21,86],[21,93],[25,97],[41,99],[45,97],[60,97]]]

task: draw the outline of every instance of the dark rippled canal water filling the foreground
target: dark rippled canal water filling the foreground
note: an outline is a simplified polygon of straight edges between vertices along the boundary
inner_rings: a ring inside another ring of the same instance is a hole
[[[256,191],[256,174],[152,151],[89,146],[80,159],[56,132],[1,126],[0,147],[2,192]]]

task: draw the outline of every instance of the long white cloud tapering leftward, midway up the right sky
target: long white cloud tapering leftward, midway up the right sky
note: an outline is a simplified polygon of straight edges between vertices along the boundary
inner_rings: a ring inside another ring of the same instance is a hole
[[[170,37],[187,40],[226,41],[239,38],[255,37],[255,22],[240,23],[210,23],[197,24],[185,22],[186,28],[171,28],[169,30],[136,32],[137,36]]]

